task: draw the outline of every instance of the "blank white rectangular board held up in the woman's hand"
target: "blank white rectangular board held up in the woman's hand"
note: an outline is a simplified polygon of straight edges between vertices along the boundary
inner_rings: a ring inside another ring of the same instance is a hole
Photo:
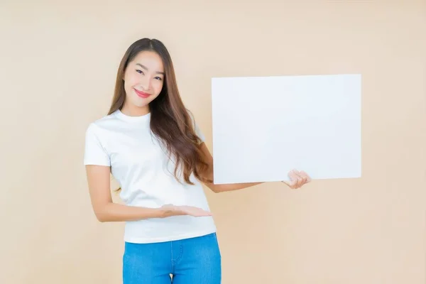
[[[361,75],[212,78],[214,183],[361,177]]]

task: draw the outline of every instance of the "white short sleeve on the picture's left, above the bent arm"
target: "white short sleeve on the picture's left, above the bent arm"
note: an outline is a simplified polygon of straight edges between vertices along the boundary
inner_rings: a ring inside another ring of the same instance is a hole
[[[90,124],[84,144],[84,165],[111,165],[109,155],[99,139],[97,126]]]

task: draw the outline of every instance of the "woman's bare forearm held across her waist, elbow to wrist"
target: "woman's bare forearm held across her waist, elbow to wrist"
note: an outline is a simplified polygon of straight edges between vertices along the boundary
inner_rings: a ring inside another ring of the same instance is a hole
[[[168,212],[160,208],[133,207],[114,202],[95,209],[95,214],[99,222],[126,222],[168,217]]]

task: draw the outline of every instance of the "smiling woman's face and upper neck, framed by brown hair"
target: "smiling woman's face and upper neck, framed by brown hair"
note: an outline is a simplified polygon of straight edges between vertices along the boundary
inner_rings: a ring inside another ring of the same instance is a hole
[[[163,60],[153,51],[141,51],[129,62],[124,73],[124,106],[148,113],[148,104],[158,97],[163,82]]]

